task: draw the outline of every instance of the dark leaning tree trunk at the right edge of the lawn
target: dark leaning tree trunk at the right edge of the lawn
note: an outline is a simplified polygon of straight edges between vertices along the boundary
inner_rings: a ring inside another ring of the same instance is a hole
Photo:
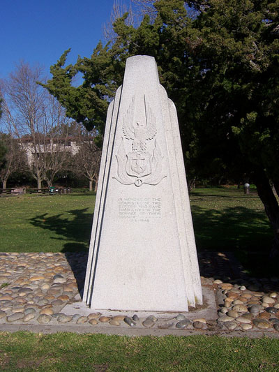
[[[269,218],[271,227],[273,229],[274,238],[271,247],[271,258],[276,257],[279,254],[279,205],[276,196],[273,193],[269,179],[266,177],[264,172],[258,172],[255,177],[255,185],[257,186],[257,192],[259,198],[264,203],[264,209],[266,215]]]

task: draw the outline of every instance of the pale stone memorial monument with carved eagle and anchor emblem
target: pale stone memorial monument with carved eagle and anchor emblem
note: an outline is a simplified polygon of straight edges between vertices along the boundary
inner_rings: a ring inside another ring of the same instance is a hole
[[[83,301],[98,311],[202,304],[176,109],[153,57],[127,59],[107,112]]]

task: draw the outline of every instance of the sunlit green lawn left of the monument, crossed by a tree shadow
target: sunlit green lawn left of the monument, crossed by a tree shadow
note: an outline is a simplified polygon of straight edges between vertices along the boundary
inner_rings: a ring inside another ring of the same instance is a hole
[[[0,251],[87,249],[95,198],[91,194],[0,198]]]

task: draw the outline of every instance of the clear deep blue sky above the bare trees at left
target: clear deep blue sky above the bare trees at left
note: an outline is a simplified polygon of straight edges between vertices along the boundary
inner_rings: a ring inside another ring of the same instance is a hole
[[[90,57],[113,0],[0,0],[0,78],[24,60],[50,66],[71,48],[67,63]]]

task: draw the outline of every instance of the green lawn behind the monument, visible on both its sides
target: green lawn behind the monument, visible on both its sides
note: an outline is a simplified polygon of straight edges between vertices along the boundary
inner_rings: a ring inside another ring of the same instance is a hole
[[[0,198],[0,251],[88,249],[95,198],[89,193]],[[273,235],[255,191],[197,188],[190,202],[198,251],[234,251],[248,271],[268,259]]]

